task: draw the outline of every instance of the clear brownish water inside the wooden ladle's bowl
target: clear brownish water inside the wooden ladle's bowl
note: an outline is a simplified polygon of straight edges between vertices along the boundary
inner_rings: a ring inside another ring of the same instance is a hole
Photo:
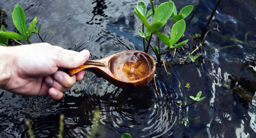
[[[110,71],[118,79],[133,81],[149,74],[149,63],[144,54],[138,52],[125,52],[112,58]]]

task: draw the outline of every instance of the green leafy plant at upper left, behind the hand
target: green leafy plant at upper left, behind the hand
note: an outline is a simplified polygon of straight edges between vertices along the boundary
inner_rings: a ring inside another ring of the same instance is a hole
[[[0,45],[7,46],[8,39],[11,39],[18,45],[22,45],[22,43],[20,43],[17,40],[25,40],[31,44],[29,38],[32,33],[37,34],[40,40],[44,42],[41,36],[39,35],[42,26],[40,25],[38,29],[36,27],[37,17],[35,17],[33,21],[29,23],[28,28],[26,28],[26,16],[19,4],[13,9],[12,21],[20,34],[12,31],[6,31],[6,28],[2,25],[0,30]]]

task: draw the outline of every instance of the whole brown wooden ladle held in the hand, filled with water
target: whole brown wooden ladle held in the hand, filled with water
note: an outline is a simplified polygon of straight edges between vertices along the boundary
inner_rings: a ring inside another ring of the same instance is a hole
[[[88,60],[83,66],[68,71],[72,76],[86,69],[120,88],[145,86],[154,76],[155,60],[138,50],[121,51],[99,60]]]

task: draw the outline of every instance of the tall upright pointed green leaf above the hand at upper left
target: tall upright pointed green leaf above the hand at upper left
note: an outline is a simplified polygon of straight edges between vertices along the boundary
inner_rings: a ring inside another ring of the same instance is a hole
[[[19,4],[13,9],[12,21],[20,34],[26,38],[26,16]]]

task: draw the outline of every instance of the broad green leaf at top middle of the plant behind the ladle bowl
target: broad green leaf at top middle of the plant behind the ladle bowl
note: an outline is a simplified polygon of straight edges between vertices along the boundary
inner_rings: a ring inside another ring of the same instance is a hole
[[[155,11],[152,24],[159,21],[168,20],[171,17],[173,10],[174,10],[173,2],[162,3],[161,5],[158,6],[158,8]]]

